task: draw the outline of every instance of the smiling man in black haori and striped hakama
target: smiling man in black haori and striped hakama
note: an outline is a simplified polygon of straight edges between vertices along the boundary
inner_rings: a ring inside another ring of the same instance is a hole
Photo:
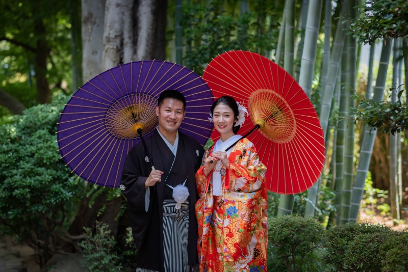
[[[156,107],[159,125],[145,139],[148,153],[139,143],[124,163],[120,187],[127,199],[138,249],[136,271],[197,271],[194,176],[204,150],[196,140],[178,131],[185,109],[183,94],[164,91]],[[152,170],[147,154],[156,170]],[[177,209],[173,188],[183,184],[189,196]]]

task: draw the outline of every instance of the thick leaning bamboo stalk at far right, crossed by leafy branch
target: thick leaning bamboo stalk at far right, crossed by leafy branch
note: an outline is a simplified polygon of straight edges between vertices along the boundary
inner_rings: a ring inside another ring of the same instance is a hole
[[[373,100],[382,101],[384,98],[384,89],[387,78],[388,63],[391,53],[391,39],[385,39],[381,49],[380,64],[378,75],[374,87]],[[350,222],[356,222],[359,215],[361,199],[363,198],[364,185],[366,183],[367,171],[370,165],[371,153],[374,146],[374,140],[377,130],[371,126],[365,126],[363,142],[361,143],[359,165],[354,177],[354,185],[351,195]]]

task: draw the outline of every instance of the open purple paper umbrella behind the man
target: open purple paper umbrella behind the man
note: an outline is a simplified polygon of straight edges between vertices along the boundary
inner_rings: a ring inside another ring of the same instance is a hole
[[[127,152],[156,128],[157,98],[177,90],[186,98],[180,131],[205,145],[213,130],[208,115],[214,96],[194,71],[170,62],[139,61],[101,73],[65,105],[58,123],[58,146],[72,172],[101,186],[119,187]]]

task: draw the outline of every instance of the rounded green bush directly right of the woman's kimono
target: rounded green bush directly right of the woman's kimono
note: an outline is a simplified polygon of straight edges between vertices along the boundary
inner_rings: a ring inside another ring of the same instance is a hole
[[[269,220],[271,271],[322,271],[317,248],[323,227],[311,217],[285,215]]]

